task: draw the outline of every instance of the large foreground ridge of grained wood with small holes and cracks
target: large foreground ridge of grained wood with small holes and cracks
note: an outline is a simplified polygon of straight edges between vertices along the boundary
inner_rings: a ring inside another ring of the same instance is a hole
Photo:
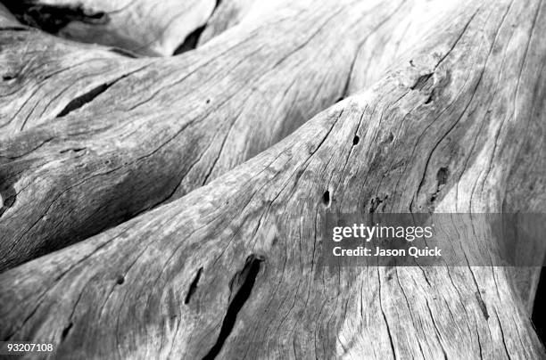
[[[503,268],[317,261],[327,209],[543,209],[545,7],[468,2],[243,166],[1,274],[1,338],[61,357],[543,358]]]

